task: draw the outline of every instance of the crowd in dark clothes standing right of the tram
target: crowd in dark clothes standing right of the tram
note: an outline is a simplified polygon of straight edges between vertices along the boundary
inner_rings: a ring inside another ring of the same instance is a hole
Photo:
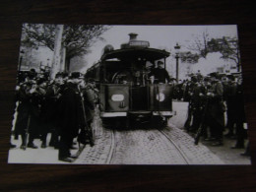
[[[236,139],[231,149],[245,147],[247,124],[240,74],[211,73],[204,77],[197,73],[179,84],[172,79],[172,84],[173,98],[189,102],[184,125],[188,132],[196,134],[201,127],[202,136],[213,141],[213,146],[223,146],[226,137]]]

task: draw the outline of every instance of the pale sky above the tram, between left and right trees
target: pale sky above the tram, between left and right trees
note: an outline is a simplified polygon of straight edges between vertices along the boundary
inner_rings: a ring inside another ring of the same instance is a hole
[[[90,63],[96,62],[101,55],[101,50],[106,44],[113,45],[114,49],[120,48],[120,44],[129,40],[129,33],[138,33],[137,39],[150,41],[153,48],[166,48],[173,52],[176,42],[181,45],[181,50],[193,39],[209,32],[211,37],[237,36],[236,26],[112,26],[110,30],[104,32],[104,41],[98,41],[92,47],[92,53],[87,55]]]

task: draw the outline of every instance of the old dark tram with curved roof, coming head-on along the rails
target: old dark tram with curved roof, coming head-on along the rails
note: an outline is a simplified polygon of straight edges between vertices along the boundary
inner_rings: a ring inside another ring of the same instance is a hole
[[[151,71],[158,61],[165,69],[170,53],[151,48],[149,41],[137,40],[136,33],[129,35],[120,49],[106,45],[100,60],[85,75],[86,80],[96,82],[99,90],[100,117],[123,117],[127,126],[156,119],[164,124],[174,114],[172,86],[158,83]]]

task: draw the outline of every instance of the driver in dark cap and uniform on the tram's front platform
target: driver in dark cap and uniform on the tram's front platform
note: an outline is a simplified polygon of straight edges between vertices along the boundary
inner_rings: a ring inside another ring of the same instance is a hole
[[[168,72],[163,68],[163,62],[158,61],[157,68],[154,68],[153,71],[149,74],[149,76],[154,76],[156,80],[155,83],[165,84],[166,82],[170,82],[170,77]]]

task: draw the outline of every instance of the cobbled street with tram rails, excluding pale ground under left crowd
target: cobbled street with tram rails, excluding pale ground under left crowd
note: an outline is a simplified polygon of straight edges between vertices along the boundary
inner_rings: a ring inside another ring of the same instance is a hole
[[[194,139],[183,129],[187,103],[174,102],[177,115],[172,117],[161,133],[157,129],[118,130],[99,128],[96,146],[86,147],[75,163],[110,164],[249,164],[249,158],[240,157],[229,149],[234,141],[225,141],[221,148],[208,143],[194,145]],[[96,121],[98,122],[99,119]],[[174,124],[175,123],[175,124]],[[100,123],[97,124],[100,126]],[[171,140],[174,145],[169,141]],[[179,152],[176,148],[179,149]],[[242,150],[239,152],[242,153]],[[229,158],[228,158],[229,157]]]

